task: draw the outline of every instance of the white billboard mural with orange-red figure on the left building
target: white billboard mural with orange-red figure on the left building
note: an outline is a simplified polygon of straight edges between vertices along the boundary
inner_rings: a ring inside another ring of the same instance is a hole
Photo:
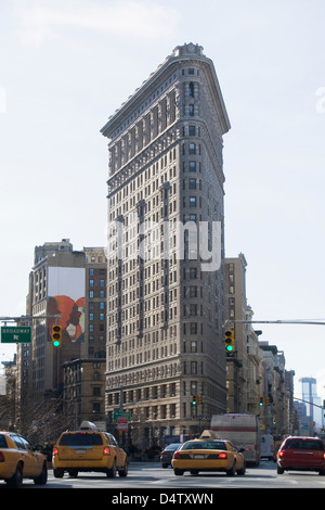
[[[61,315],[63,343],[84,341],[84,268],[49,267],[48,315]]]

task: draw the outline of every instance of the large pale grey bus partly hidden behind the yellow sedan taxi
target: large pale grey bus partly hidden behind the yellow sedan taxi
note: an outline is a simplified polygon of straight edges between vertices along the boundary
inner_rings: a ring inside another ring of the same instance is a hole
[[[259,417],[245,413],[212,415],[210,429],[220,439],[244,449],[246,464],[259,466],[261,433]]]

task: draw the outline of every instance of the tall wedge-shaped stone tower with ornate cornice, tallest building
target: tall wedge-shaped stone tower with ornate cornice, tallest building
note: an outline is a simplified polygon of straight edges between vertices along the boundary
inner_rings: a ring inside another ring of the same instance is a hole
[[[226,410],[223,135],[211,60],[172,54],[108,119],[106,413],[140,446]],[[196,404],[193,404],[196,400]]]

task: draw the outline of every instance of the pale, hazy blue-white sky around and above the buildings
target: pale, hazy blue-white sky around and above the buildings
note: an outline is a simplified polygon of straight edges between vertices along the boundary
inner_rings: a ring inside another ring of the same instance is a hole
[[[185,42],[216,67],[225,253],[255,320],[325,321],[324,0],[0,0],[0,317],[26,313],[34,248],[105,244],[108,117]],[[325,326],[261,324],[325,398]],[[0,360],[12,358],[2,344]]]

